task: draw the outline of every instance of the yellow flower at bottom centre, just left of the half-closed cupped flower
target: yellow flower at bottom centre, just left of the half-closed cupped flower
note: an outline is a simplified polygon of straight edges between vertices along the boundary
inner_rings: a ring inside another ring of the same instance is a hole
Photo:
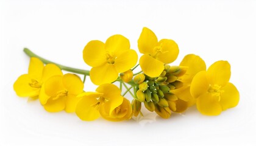
[[[124,97],[121,96],[120,89],[110,83],[100,85],[96,92],[83,92],[78,97],[82,99],[77,103],[76,114],[81,120],[96,120],[100,116],[100,112],[104,115],[111,115],[108,118],[112,119],[119,116],[116,108],[123,103]],[[127,106],[127,102],[123,103]],[[122,106],[122,105],[121,105]],[[114,111],[116,109],[116,111]],[[113,113],[114,112],[114,113]],[[121,113],[125,113],[121,111]],[[120,114],[121,114],[120,113]]]

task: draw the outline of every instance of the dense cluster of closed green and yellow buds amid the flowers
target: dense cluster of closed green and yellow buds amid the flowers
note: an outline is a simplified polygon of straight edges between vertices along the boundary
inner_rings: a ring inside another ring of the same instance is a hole
[[[149,111],[154,111],[155,107],[167,108],[171,96],[169,92],[183,86],[179,81],[179,77],[185,74],[185,69],[180,66],[169,66],[165,64],[165,69],[159,77],[149,77],[145,74],[138,74],[134,78],[134,82],[138,84],[136,99],[137,102],[143,102]]]

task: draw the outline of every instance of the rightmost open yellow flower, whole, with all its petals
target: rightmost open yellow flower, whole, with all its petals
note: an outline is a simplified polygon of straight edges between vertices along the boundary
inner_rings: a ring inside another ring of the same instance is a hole
[[[198,72],[194,76],[190,92],[197,98],[196,106],[200,113],[216,116],[238,104],[239,92],[229,82],[230,75],[229,62],[216,61],[207,71]]]

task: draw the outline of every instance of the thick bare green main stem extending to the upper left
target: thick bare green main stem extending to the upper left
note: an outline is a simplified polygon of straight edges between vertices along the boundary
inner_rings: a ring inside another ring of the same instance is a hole
[[[34,54],[34,52],[32,52],[31,50],[29,50],[27,48],[24,48],[23,51],[29,57],[36,57],[36,58],[40,59],[41,61],[43,61],[44,64],[53,63],[53,64],[57,65],[60,69],[62,69],[64,71],[69,71],[69,72],[73,72],[73,73],[77,73],[77,74],[84,74],[84,75],[90,76],[90,71],[86,71],[86,70],[82,70],[82,69],[76,69],[76,68],[70,68],[68,66],[63,66],[62,64],[54,63],[52,61],[46,60],[46,59],[44,59],[44,58]]]

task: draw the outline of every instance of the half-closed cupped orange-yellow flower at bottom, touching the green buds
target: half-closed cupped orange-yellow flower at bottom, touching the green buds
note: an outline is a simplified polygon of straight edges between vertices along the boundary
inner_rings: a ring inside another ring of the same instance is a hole
[[[123,103],[116,107],[112,113],[107,114],[104,108],[105,104],[101,105],[99,113],[104,119],[117,122],[121,120],[129,120],[132,117],[132,106],[130,101],[124,98]]]

